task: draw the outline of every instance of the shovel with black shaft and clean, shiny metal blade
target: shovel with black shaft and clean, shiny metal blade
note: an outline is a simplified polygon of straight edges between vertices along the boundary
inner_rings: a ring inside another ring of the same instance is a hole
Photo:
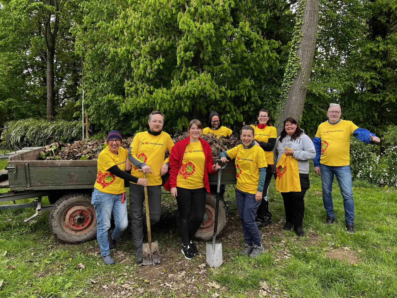
[[[217,163],[221,160],[217,159]],[[226,167],[227,162],[222,168],[218,169],[218,188],[216,189],[216,207],[215,207],[215,222],[214,222],[214,235],[212,236],[212,243],[206,243],[207,264],[210,267],[219,267],[223,263],[222,243],[215,243],[216,230],[218,228],[218,211],[219,211],[219,193],[221,189],[221,176],[222,170]]]

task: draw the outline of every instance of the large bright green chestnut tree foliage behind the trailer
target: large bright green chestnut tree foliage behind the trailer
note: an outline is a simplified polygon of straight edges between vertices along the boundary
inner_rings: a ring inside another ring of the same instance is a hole
[[[91,1],[82,8],[87,16],[74,33],[85,51],[87,103],[105,129],[142,130],[153,109],[178,130],[210,110],[222,111],[229,126],[243,122],[256,114],[257,89],[278,65],[280,43],[265,38],[268,14],[259,2]],[[128,122],[109,112],[128,114]]]

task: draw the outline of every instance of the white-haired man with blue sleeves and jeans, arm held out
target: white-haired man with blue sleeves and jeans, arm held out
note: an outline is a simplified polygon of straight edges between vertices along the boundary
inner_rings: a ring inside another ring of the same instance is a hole
[[[358,128],[351,121],[342,120],[341,106],[331,103],[328,108],[328,121],[318,126],[316,137],[313,139],[316,148],[316,157],[313,160],[314,171],[321,172],[322,196],[324,208],[327,211],[326,224],[335,223],[332,201],[332,182],[334,175],[338,180],[339,188],[345,207],[346,230],[354,230],[354,201],[350,172],[350,136],[353,134],[363,143],[379,143],[380,139],[366,129]]]

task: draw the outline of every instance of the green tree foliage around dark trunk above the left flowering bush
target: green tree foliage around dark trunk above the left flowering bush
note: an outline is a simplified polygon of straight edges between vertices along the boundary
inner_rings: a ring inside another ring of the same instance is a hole
[[[0,126],[8,120],[46,115],[47,46],[42,15],[54,8],[39,0],[1,3]],[[54,106],[56,118],[63,120],[73,120],[73,113],[78,110],[75,101],[80,59],[73,51],[74,39],[69,33],[71,25],[81,19],[78,4],[67,0],[56,39]]]

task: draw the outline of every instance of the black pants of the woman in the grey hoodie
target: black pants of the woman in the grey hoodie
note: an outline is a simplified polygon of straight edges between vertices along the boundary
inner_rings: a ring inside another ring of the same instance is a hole
[[[293,223],[295,228],[302,226],[304,215],[304,195],[306,190],[310,188],[309,174],[299,174],[301,180],[300,192],[282,192],[285,209],[285,221]]]

